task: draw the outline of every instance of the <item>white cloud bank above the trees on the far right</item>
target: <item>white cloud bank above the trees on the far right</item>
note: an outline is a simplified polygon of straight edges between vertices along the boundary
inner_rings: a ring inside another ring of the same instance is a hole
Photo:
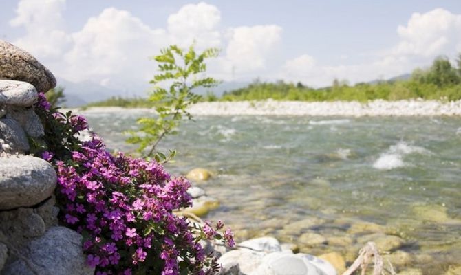
[[[440,54],[454,55],[461,50],[461,14],[435,9],[425,14],[414,13],[407,25],[397,28],[400,41],[374,61],[352,65],[323,65],[303,54],[281,67],[279,77],[302,81],[308,85],[330,85],[334,78],[351,83],[391,78],[429,65]]]

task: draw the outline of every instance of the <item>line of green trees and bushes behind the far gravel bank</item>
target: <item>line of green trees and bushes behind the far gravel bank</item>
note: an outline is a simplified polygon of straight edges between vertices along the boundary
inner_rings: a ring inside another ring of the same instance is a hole
[[[461,54],[457,64],[448,58],[436,58],[428,69],[416,69],[407,80],[383,80],[376,83],[347,85],[334,80],[330,87],[312,88],[302,83],[275,83],[253,81],[247,87],[224,92],[221,98],[208,94],[203,101],[242,100],[299,100],[299,101],[361,101],[404,100],[422,98],[425,100],[461,100]],[[153,102],[144,98],[113,97],[88,106],[153,107]]]

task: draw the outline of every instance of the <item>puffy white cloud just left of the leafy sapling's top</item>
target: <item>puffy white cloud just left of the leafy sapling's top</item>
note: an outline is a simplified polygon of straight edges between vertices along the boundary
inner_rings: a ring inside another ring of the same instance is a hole
[[[127,11],[107,8],[71,34],[72,48],[64,54],[61,74],[68,80],[147,81],[155,69],[148,56],[156,54],[165,31],[151,29]],[[150,75],[149,75],[150,74]]]

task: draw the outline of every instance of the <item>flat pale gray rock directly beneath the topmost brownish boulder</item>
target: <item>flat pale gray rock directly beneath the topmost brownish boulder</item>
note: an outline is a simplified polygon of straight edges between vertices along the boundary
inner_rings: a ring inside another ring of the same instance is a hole
[[[32,106],[39,94],[29,83],[15,80],[0,80],[0,104],[22,107]]]

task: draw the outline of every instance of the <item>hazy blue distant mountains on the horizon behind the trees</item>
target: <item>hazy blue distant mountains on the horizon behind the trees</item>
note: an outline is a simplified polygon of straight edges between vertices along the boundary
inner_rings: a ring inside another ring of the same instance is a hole
[[[408,80],[411,78],[411,74],[402,74],[400,76],[394,76],[387,80],[372,80],[369,84],[376,84],[382,81],[396,81],[396,80]],[[213,92],[216,96],[222,96],[224,91],[233,91],[249,85],[250,81],[228,81],[223,82],[213,89],[197,89],[197,94],[206,95],[208,91]],[[133,91],[127,91],[124,89],[114,89],[105,87],[98,83],[85,81],[81,83],[73,83],[71,81],[58,78],[58,86],[64,87],[64,94],[66,101],[65,107],[79,107],[85,104],[96,102],[100,100],[106,100],[111,96],[121,96],[123,98],[133,98],[135,96],[146,97],[148,85],[138,85],[134,87]]]

